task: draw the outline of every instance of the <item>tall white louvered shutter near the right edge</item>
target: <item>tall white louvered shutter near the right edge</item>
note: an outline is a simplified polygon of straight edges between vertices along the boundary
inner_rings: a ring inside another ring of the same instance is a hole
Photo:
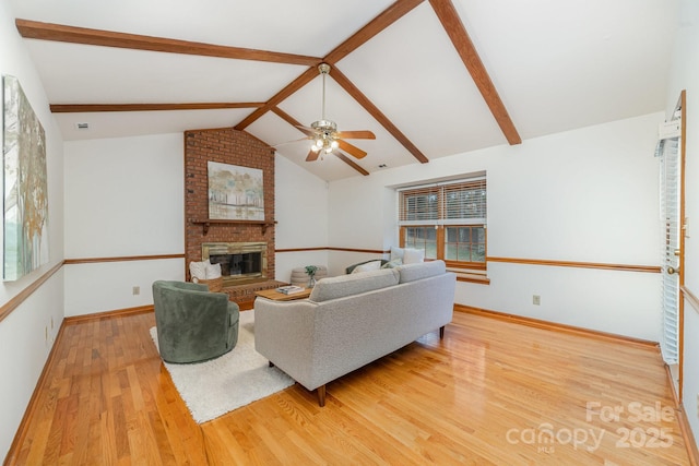
[[[659,144],[661,196],[661,254],[663,264],[661,351],[668,365],[679,360],[679,275],[667,267],[678,267],[675,250],[679,248],[679,140],[666,139]]]

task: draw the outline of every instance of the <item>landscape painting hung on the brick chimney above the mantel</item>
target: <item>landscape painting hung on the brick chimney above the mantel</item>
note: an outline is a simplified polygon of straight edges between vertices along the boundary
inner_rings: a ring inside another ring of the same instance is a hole
[[[210,219],[264,220],[262,170],[217,162],[206,168]]]

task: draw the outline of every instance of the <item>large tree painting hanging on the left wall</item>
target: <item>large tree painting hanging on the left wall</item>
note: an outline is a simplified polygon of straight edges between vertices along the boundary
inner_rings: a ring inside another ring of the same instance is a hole
[[[48,262],[46,135],[20,82],[2,76],[3,279]]]

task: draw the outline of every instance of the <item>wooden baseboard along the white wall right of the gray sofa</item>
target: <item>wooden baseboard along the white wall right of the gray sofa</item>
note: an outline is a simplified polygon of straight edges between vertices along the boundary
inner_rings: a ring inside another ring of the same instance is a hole
[[[631,344],[636,346],[642,346],[645,348],[654,348],[660,351],[660,344],[657,342],[651,342],[642,338],[635,338],[631,336],[619,335],[615,333],[600,332],[596,330],[590,330],[579,327],[574,325],[559,324],[556,322],[544,321],[541,319],[533,319],[523,315],[508,314],[506,312],[490,311],[487,309],[473,308],[471,306],[454,304],[454,311],[467,312],[471,314],[483,315],[493,319],[499,319],[507,322],[513,322],[522,325],[533,326],[536,328],[549,330],[553,332],[565,332],[576,335],[588,336],[591,338],[605,339],[612,342],[619,342],[625,344]]]

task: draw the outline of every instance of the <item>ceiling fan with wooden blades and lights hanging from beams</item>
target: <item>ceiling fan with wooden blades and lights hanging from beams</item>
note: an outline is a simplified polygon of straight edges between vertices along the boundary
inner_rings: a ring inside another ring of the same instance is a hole
[[[325,76],[330,73],[330,64],[320,63],[318,65],[318,71],[320,71],[323,79],[322,117],[320,120],[313,121],[310,124],[310,128],[300,126],[296,127],[306,134],[306,139],[313,141],[313,145],[308,152],[306,162],[317,160],[318,157],[324,154],[332,154],[337,150],[344,151],[356,158],[364,158],[367,153],[359,147],[350,144],[345,139],[375,140],[376,135],[368,130],[337,131],[337,123],[325,119]]]

